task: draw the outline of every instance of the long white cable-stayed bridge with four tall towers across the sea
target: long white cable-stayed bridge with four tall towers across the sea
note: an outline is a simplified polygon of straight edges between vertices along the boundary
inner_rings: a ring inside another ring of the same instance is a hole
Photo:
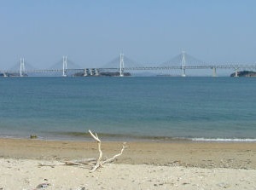
[[[187,70],[212,70],[212,77],[217,77],[217,70],[231,69],[238,77],[238,72],[241,70],[256,70],[256,64],[209,64],[205,61],[199,60],[191,55],[186,54],[184,51],[171,60],[167,60],[156,66],[145,66],[147,64],[140,64],[124,54],[109,61],[107,64],[96,68],[82,68],[81,66],[73,63],[72,60],[63,56],[61,60],[51,66],[49,69],[35,69],[31,64],[27,63],[24,58],[20,58],[17,63],[10,70],[0,70],[2,77],[26,77],[34,76],[100,76],[103,73],[115,73],[114,76],[124,77],[127,72],[137,71],[181,71],[179,76],[186,77]]]

